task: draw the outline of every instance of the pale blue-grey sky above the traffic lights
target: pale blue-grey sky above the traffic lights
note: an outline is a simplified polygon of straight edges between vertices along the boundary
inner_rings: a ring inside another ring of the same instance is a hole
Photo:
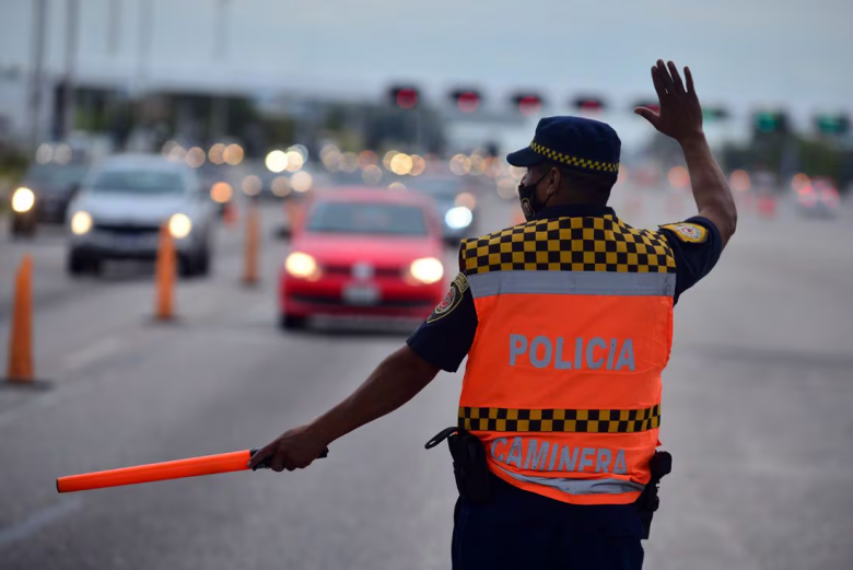
[[[27,65],[33,1],[0,0],[0,66]],[[703,103],[735,113],[853,112],[851,0],[79,2],[78,69],[91,80],[377,101],[389,82],[407,81],[434,100],[479,86],[493,106],[531,89],[550,101],[549,114],[568,112],[580,93],[600,94],[621,114],[654,93],[650,68],[665,58],[691,67]],[[56,72],[67,4],[48,0]],[[140,66],[144,9],[154,39]]]

